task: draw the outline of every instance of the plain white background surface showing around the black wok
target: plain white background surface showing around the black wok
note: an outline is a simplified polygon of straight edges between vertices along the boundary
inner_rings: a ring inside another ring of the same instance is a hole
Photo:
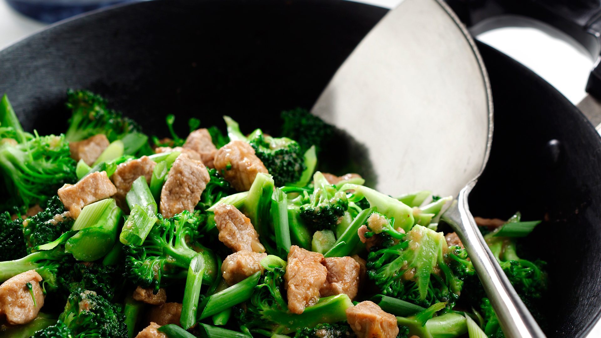
[[[402,0],[363,0],[381,7],[396,7]],[[45,26],[44,23],[28,19],[8,7],[0,0],[0,49]],[[542,78],[554,85],[572,103],[585,96],[588,73],[593,66],[590,55],[563,40],[551,37],[534,28],[499,28],[477,36],[478,40],[520,61]],[[601,337],[601,325],[590,334]]]

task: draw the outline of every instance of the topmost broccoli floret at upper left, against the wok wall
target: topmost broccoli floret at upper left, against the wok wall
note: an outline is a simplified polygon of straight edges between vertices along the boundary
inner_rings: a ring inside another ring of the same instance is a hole
[[[85,140],[105,134],[109,141],[123,138],[142,129],[131,118],[106,106],[107,101],[87,90],[68,90],[67,108],[72,111],[65,139],[69,142]],[[67,156],[69,157],[69,156]]]

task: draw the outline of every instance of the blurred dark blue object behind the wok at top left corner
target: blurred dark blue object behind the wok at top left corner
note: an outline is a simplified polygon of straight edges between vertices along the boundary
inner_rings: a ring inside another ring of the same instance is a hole
[[[98,8],[139,1],[141,0],[6,0],[8,5],[19,13],[46,23],[67,19]]]

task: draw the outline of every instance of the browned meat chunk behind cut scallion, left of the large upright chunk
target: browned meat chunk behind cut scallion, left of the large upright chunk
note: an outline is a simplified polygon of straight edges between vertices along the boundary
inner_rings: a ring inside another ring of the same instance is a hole
[[[132,188],[132,183],[138,177],[144,176],[146,178],[146,183],[150,185],[150,179],[152,178],[152,171],[154,170],[154,166],[156,162],[148,158],[148,156],[142,156],[139,159],[132,159],[132,161],[127,161],[117,165],[117,169],[115,173],[112,174],[111,180],[117,188],[117,194],[115,194],[114,198],[117,200],[118,205],[121,209],[127,207],[127,201],[125,200],[125,196],[129,189]]]

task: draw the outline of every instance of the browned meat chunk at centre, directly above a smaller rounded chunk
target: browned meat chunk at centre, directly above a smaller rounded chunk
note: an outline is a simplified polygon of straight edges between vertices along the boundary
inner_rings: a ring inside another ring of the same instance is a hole
[[[219,241],[234,253],[240,250],[255,251],[262,253],[265,251],[259,234],[252,226],[251,220],[246,217],[235,206],[229,204],[218,204],[215,206],[215,223],[219,230]]]

